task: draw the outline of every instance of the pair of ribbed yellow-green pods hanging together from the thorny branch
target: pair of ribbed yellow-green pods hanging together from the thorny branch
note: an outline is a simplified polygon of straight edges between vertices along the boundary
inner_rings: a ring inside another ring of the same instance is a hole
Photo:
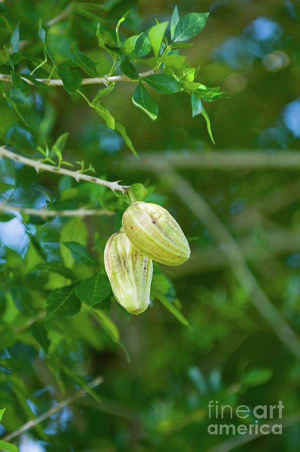
[[[187,240],[172,215],[158,204],[135,201],[123,214],[120,232],[109,238],[104,262],[117,301],[137,315],[150,303],[152,260],[180,265],[189,256]]]

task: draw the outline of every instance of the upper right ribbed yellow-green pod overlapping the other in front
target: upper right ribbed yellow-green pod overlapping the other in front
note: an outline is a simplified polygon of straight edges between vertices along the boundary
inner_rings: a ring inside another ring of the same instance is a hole
[[[134,248],[154,261],[180,265],[190,256],[179,224],[158,204],[133,202],[124,212],[122,224]]]

